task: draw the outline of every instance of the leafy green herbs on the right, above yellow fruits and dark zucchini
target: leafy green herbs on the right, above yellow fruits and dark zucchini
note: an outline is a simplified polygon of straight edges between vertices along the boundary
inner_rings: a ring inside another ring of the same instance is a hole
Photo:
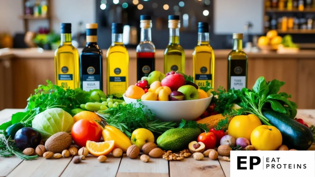
[[[252,90],[243,88],[241,91],[231,89],[226,91],[219,88],[215,111],[224,115],[235,116],[242,114],[255,114],[266,125],[271,125],[263,116],[262,111],[273,110],[294,118],[297,113],[295,102],[288,100],[291,95],[280,92],[284,82],[276,79],[266,82],[264,77],[259,77]]]

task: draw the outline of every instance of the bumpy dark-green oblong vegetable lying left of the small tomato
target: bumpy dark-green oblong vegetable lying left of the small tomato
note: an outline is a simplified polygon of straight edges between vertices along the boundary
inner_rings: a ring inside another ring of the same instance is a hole
[[[164,150],[182,150],[200,133],[199,128],[172,128],[157,138],[157,145]]]

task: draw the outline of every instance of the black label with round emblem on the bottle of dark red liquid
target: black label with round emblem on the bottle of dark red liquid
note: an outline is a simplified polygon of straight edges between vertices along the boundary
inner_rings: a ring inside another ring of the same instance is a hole
[[[148,77],[155,70],[155,58],[137,58],[137,80]]]

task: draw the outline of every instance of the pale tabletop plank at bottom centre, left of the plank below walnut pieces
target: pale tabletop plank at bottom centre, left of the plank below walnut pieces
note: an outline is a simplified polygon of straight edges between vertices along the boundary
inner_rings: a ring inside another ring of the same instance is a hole
[[[167,177],[169,176],[168,162],[163,158],[151,158],[150,161],[144,163],[137,159],[130,159],[123,155],[117,177]]]

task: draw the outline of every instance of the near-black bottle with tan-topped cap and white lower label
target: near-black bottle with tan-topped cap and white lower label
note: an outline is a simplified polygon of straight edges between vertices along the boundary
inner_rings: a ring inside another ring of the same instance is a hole
[[[103,57],[97,45],[97,23],[86,24],[86,46],[80,54],[81,88],[103,90]]]

